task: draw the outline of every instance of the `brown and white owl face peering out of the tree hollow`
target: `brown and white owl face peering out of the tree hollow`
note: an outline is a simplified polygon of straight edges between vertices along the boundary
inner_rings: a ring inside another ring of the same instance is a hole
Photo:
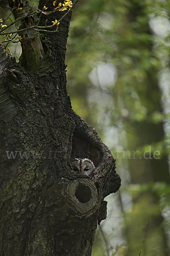
[[[90,176],[94,171],[94,163],[88,158],[75,158],[71,164],[75,174],[83,174]]]

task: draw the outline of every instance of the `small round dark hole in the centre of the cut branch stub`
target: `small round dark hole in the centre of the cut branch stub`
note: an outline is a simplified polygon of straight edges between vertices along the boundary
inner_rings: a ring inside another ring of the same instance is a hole
[[[91,200],[91,189],[88,186],[79,184],[75,196],[80,203],[88,203]]]

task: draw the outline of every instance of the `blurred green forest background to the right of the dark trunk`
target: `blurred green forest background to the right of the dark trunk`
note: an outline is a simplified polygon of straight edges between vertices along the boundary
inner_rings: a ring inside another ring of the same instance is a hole
[[[74,7],[68,94],[111,148],[122,177],[119,193],[106,198],[92,256],[170,255],[169,15],[166,0],[79,0]]]

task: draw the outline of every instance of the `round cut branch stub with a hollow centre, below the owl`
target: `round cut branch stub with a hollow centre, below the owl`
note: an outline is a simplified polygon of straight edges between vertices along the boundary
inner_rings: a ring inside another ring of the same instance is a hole
[[[79,214],[89,214],[97,204],[97,189],[91,180],[72,180],[67,187],[68,205]]]

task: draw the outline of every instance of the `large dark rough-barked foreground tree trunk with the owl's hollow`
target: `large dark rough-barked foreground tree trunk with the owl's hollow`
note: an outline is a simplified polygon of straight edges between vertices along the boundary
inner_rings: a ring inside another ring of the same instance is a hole
[[[24,15],[26,0],[0,1],[0,7],[19,2]],[[62,15],[49,15],[47,23]],[[71,109],[65,75],[70,19],[71,12],[57,33],[24,32],[20,64],[0,44],[1,256],[91,255],[97,220],[106,217],[103,199],[120,186],[111,151]],[[33,23],[26,18],[20,28]],[[75,157],[94,162],[92,179],[74,174]]]

